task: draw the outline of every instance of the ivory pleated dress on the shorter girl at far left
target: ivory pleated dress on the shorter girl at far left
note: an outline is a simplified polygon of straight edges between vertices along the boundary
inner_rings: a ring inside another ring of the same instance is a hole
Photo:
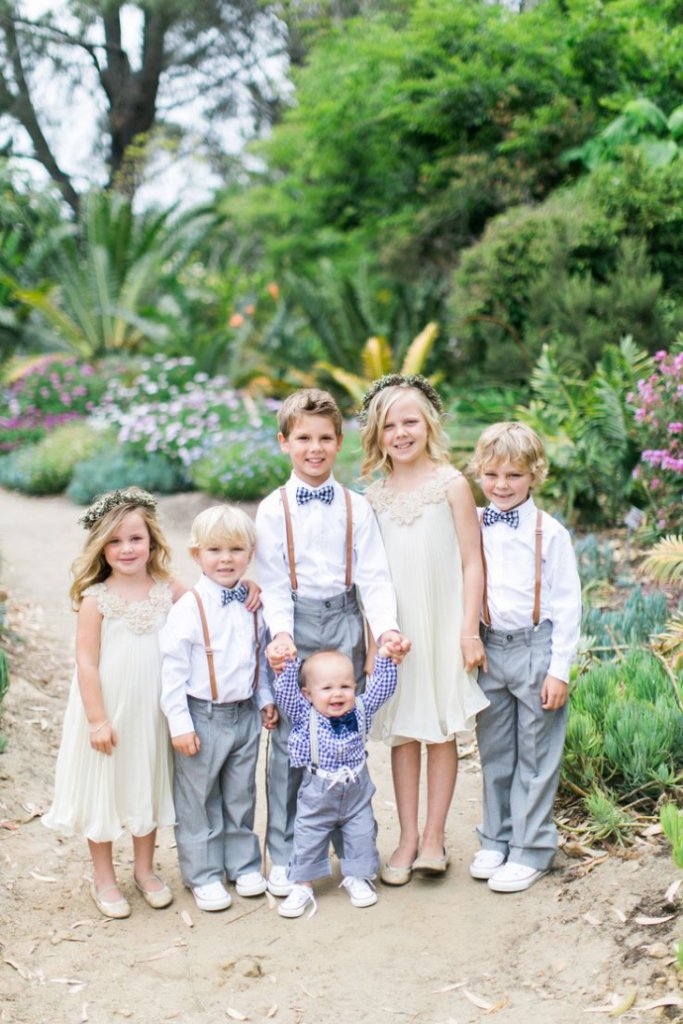
[[[156,583],[144,601],[126,601],[99,583],[86,595],[102,614],[99,679],[106,718],[117,735],[111,756],[90,746],[88,722],[74,674],[57,757],[54,800],[43,822],[95,843],[128,828],[146,836],[175,821],[172,757],[162,714],[159,630],[171,590]]]

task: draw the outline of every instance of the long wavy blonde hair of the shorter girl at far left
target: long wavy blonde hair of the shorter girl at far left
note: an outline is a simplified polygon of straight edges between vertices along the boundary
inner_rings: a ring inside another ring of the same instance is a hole
[[[103,583],[112,574],[112,567],[104,557],[104,548],[129,512],[138,512],[150,535],[150,561],[147,572],[155,580],[170,580],[171,549],[162,534],[154,509],[147,505],[138,505],[134,497],[93,523],[85,542],[82,554],[72,565],[74,582],[69,590],[75,608],[79,608],[83,600],[83,592],[95,583]]]

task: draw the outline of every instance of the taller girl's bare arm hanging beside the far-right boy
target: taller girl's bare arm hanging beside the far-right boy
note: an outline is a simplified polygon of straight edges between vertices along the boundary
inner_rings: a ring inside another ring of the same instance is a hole
[[[463,563],[463,625],[460,649],[467,672],[471,672],[478,666],[481,666],[485,672],[487,668],[486,653],[479,638],[479,612],[483,596],[483,563],[481,561],[481,531],[476,505],[470,485],[464,476],[457,476],[451,480],[446,494]]]

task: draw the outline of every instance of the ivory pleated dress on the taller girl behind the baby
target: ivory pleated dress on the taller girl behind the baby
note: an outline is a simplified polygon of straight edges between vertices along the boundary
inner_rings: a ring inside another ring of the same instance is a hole
[[[473,729],[488,706],[460,650],[463,566],[446,497],[460,475],[444,465],[417,490],[393,490],[377,480],[366,492],[389,559],[400,630],[413,643],[394,696],[373,722],[371,735],[391,746],[445,742]]]

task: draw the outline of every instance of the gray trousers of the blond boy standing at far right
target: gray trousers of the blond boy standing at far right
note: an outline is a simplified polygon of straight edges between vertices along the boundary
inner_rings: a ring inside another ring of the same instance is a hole
[[[483,775],[477,833],[484,850],[547,870],[557,849],[553,803],[567,719],[566,705],[557,711],[541,707],[552,623],[507,633],[482,629],[488,671],[478,681],[490,705],[476,723]]]

